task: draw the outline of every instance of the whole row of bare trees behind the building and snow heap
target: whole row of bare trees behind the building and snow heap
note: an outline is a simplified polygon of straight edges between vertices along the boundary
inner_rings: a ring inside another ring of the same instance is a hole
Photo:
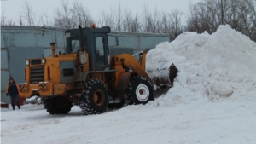
[[[73,3],[61,0],[52,17],[46,12],[37,14],[26,0],[22,3],[22,12],[17,20],[1,15],[1,26],[56,26],[77,28],[91,26],[110,26],[113,31],[152,32],[169,34],[175,39],[183,32],[216,32],[219,25],[228,24],[253,41],[256,41],[256,0],[201,0],[189,4],[189,14],[179,9],[163,12],[159,9],[150,11],[143,5],[141,13],[124,9],[120,3],[109,12],[102,11],[98,18],[93,18],[90,9],[80,0]],[[183,17],[186,16],[186,20]]]

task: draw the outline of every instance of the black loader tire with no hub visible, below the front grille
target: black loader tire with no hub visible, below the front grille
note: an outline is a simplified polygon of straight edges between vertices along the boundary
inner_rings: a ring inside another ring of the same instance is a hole
[[[58,96],[44,101],[44,108],[49,114],[67,114],[73,107],[66,96]]]

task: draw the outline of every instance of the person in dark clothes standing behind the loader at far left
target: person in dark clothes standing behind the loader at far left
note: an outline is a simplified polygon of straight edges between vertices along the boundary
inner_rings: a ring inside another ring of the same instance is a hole
[[[10,95],[13,110],[15,110],[15,101],[16,101],[16,104],[17,104],[18,108],[20,109],[19,87],[15,83],[13,78],[9,79],[9,84],[7,84],[5,93],[6,93],[6,96]]]

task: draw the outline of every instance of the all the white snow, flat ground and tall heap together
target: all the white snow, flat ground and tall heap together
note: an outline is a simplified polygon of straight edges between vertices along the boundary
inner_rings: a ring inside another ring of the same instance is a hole
[[[89,116],[76,106],[67,115],[43,105],[2,109],[1,142],[256,143],[256,43],[230,26],[185,32],[148,52],[148,70],[172,62],[174,87],[144,106]]]

